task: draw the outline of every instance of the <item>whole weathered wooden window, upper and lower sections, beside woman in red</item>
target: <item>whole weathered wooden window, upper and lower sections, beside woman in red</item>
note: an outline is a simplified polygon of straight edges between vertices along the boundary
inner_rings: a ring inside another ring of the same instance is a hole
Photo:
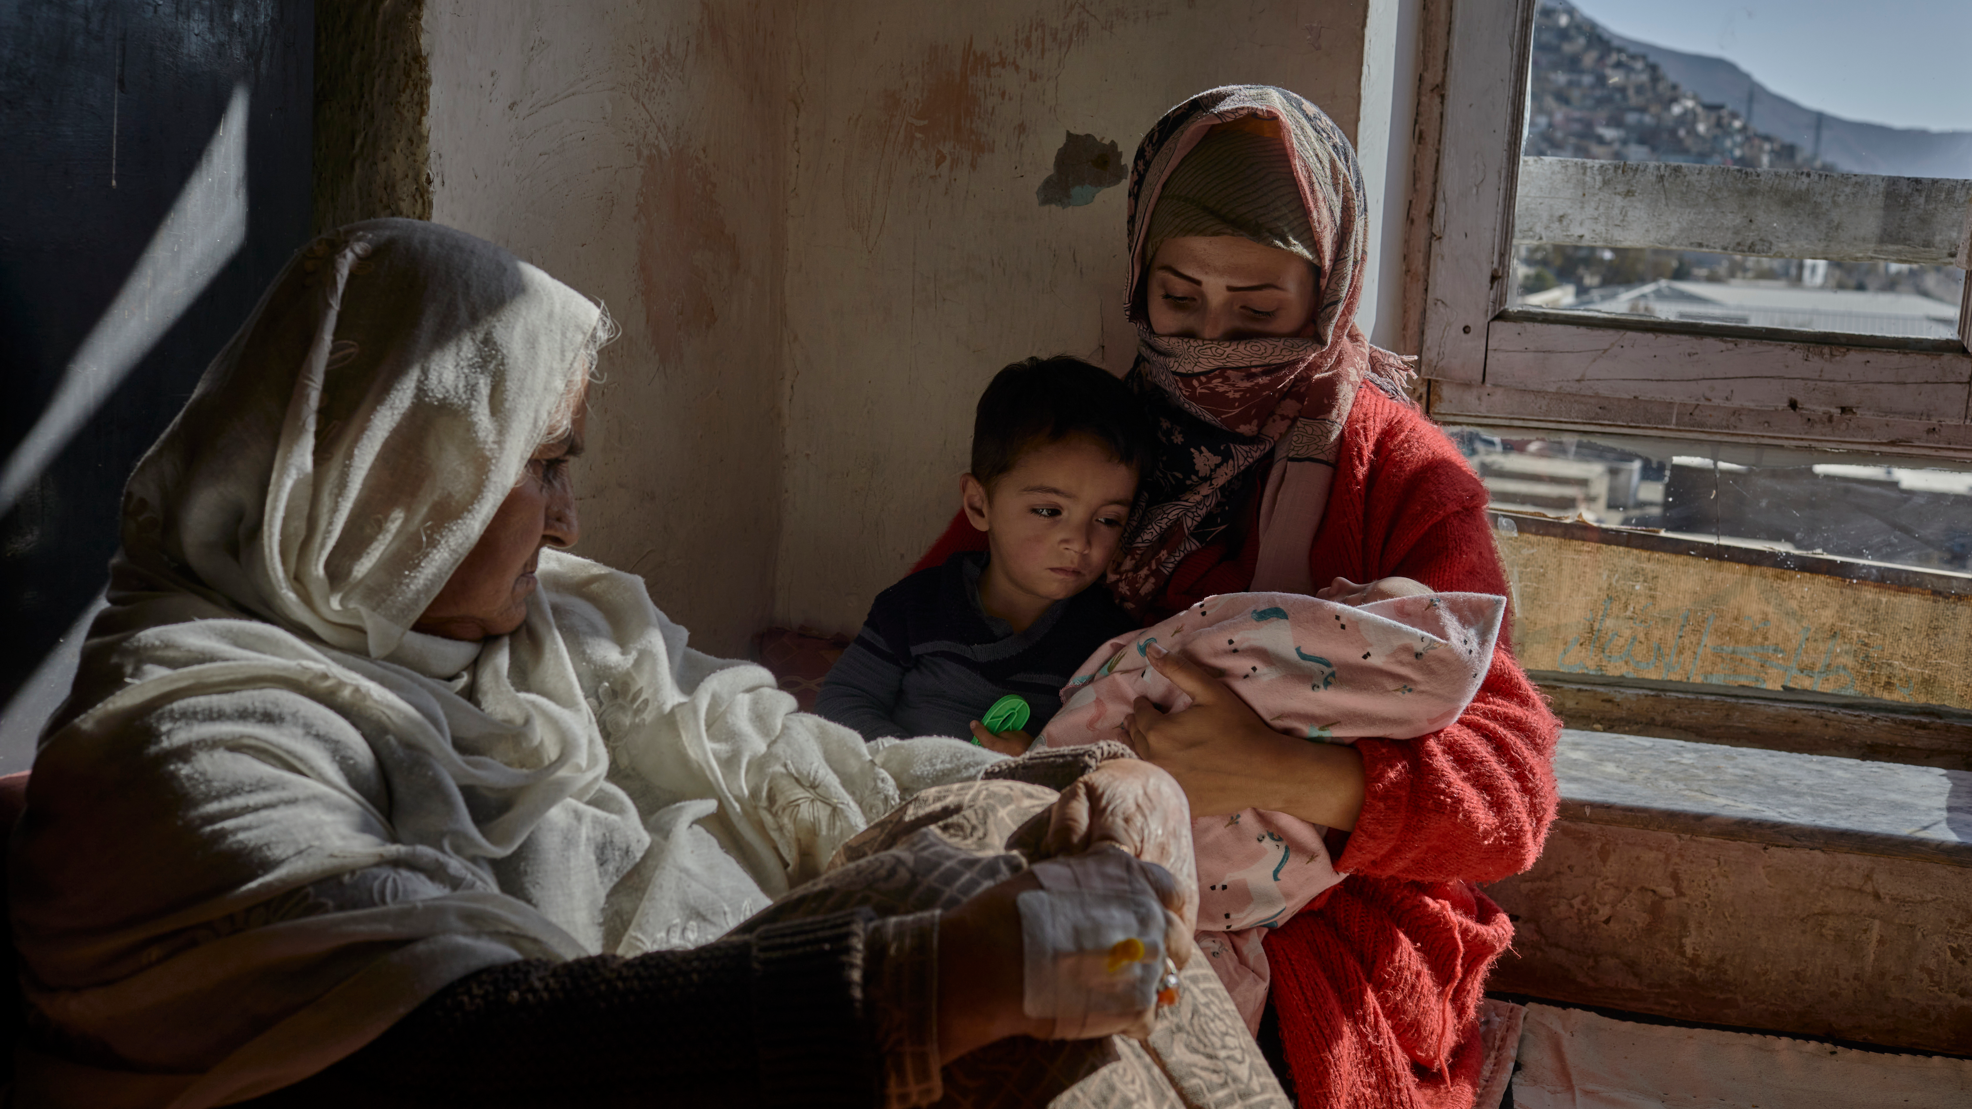
[[[1420,369],[1536,679],[1684,691],[1708,738],[1745,697],[1972,708],[1903,651],[1972,612],[1972,134],[1866,164],[1860,124],[1562,0],[1451,0],[1442,34]]]

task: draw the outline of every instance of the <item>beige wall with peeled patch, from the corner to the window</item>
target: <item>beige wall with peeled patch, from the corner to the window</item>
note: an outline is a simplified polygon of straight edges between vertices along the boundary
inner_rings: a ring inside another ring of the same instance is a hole
[[[1065,132],[1130,158],[1187,95],[1260,81],[1353,134],[1367,2],[803,10],[777,622],[858,628],[956,509],[972,405],[1002,365],[1128,365],[1124,185],[1035,199]]]

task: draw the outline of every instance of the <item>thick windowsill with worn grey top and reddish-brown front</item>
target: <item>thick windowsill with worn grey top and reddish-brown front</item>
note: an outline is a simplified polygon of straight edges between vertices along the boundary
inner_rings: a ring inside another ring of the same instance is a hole
[[[1966,777],[1566,730],[1495,991],[1885,1048],[1972,1044]]]

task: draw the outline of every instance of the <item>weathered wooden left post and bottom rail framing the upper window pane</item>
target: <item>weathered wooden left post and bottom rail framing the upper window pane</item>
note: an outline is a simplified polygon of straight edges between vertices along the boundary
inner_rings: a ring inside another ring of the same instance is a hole
[[[1418,328],[1432,418],[1972,460],[1972,280],[1954,339],[1511,308],[1536,0],[1447,6]]]

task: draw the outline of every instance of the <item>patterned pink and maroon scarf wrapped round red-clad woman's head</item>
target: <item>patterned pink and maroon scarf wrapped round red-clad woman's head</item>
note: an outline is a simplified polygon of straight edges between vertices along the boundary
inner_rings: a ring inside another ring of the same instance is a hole
[[[1187,174],[1177,209],[1154,219],[1163,185],[1195,148],[1207,144],[1215,158],[1238,156],[1215,152],[1213,128],[1221,126],[1270,134],[1286,146],[1284,160],[1246,158],[1254,172],[1292,170],[1305,225],[1268,215],[1282,189],[1250,182],[1238,187],[1240,176],[1229,172]],[[1199,93],[1165,112],[1138,146],[1128,229],[1128,312],[1138,355],[1126,381],[1158,422],[1158,458],[1144,476],[1110,576],[1116,598],[1138,616],[1154,612],[1171,572],[1236,527],[1242,495],[1260,468],[1266,468],[1260,551],[1248,588],[1313,592],[1307,549],[1327,507],[1357,389],[1369,381],[1402,399],[1412,373],[1402,357],[1373,347],[1355,326],[1369,257],[1355,150],[1321,109],[1286,89],[1229,85]],[[1144,310],[1152,251],[1165,237],[1199,229],[1309,257],[1319,268],[1311,333],[1262,339],[1154,333]]]

